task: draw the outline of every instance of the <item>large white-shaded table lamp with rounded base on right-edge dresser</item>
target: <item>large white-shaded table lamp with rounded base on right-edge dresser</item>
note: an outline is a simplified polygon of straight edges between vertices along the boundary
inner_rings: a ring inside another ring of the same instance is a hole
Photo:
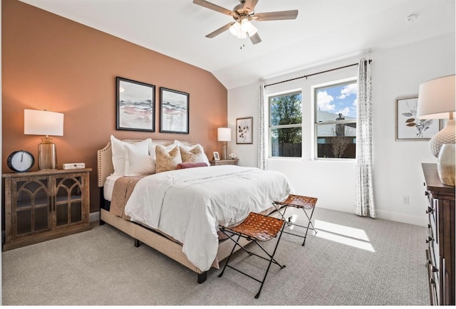
[[[428,80],[420,85],[417,117],[449,119],[429,141],[429,150],[438,157],[437,171],[442,184],[455,185],[455,75]],[[445,145],[445,147],[444,147]]]

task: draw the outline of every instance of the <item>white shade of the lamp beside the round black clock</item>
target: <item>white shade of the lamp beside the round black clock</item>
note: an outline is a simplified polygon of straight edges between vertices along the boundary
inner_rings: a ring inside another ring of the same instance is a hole
[[[63,136],[63,114],[48,110],[24,110],[24,134]]]

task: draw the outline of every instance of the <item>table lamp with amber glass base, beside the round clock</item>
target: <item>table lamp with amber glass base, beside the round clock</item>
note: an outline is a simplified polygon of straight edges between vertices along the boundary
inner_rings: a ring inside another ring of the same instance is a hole
[[[45,135],[38,144],[38,169],[57,169],[56,144],[49,135],[63,136],[63,114],[48,110],[24,110],[24,134]]]

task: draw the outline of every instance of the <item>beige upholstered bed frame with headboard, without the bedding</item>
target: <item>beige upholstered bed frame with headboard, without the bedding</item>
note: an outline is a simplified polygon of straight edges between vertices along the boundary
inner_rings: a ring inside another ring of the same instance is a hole
[[[141,142],[142,140],[123,140],[124,142]],[[174,141],[169,140],[152,140],[152,142],[160,145],[170,145]],[[192,145],[188,142],[182,142],[185,145]],[[194,144],[195,145],[195,144]],[[145,243],[147,246],[155,248],[166,256],[173,260],[181,263],[183,266],[190,268],[192,271],[198,274],[198,283],[203,283],[207,278],[207,271],[201,271],[195,265],[193,265],[182,253],[182,244],[172,241],[168,237],[160,234],[159,231],[154,229],[148,229],[141,224],[137,224],[133,221],[127,221],[121,219],[118,216],[110,214],[109,212],[109,201],[105,201],[103,195],[103,187],[105,184],[106,177],[110,176],[114,172],[113,159],[112,159],[111,143],[108,142],[103,149],[97,151],[98,157],[98,187],[100,188],[100,224],[110,224],[116,229],[123,231],[125,234],[130,235],[135,240],[135,246],[138,247],[140,243]],[[243,245],[249,243],[249,241],[243,241]],[[229,256],[233,248],[234,243],[232,241],[220,241],[219,250],[217,251],[217,261],[222,261],[224,258]],[[237,247],[239,250],[239,246]]]

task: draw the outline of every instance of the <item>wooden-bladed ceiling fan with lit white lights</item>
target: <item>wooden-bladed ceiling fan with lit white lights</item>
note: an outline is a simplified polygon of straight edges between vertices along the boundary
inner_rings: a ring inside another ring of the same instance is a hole
[[[206,36],[207,38],[213,38],[229,29],[234,36],[238,38],[249,36],[250,41],[257,44],[261,42],[261,38],[258,35],[258,29],[250,21],[281,21],[284,19],[296,19],[298,16],[298,10],[254,13],[258,0],[239,0],[239,2],[240,4],[234,6],[234,9],[230,11],[205,0],[193,0],[194,4],[232,16],[234,19],[231,23],[227,23],[216,31],[209,33]]]

